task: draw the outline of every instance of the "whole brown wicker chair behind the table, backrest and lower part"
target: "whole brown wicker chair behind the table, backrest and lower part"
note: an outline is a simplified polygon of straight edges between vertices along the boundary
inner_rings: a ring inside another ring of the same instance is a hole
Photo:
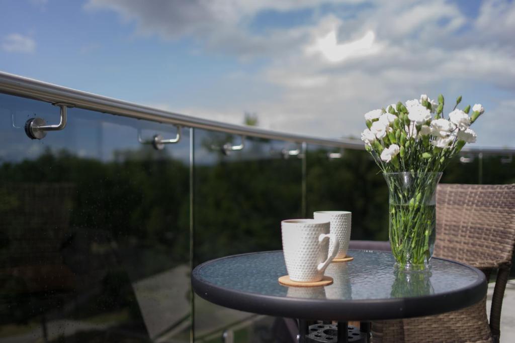
[[[372,342],[498,342],[515,243],[515,185],[446,185],[437,190],[434,256],[497,271],[490,322],[486,296],[466,309],[372,323]]]

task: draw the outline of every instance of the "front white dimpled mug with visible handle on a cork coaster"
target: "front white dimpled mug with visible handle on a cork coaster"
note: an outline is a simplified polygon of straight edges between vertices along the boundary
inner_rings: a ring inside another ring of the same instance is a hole
[[[338,252],[338,240],[329,233],[329,221],[290,219],[281,222],[284,262],[290,280],[316,282]],[[331,241],[331,247],[329,242]],[[329,250],[333,255],[329,255]]]

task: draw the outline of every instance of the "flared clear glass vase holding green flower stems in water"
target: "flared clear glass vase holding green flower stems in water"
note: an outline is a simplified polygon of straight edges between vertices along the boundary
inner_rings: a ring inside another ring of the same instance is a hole
[[[426,270],[436,238],[438,172],[383,173],[389,194],[389,238],[399,269]]]

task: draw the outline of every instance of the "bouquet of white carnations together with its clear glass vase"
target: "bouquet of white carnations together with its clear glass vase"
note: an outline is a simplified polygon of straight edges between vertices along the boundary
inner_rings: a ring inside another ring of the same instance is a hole
[[[436,186],[453,156],[476,140],[470,125],[484,113],[480,104],[457,109],[447,118],[444,99],[421,95],[406,103],[365,114],[361,135],[386,179],[389,190],[389,239],[399,268],[424,270],[435,244]]]

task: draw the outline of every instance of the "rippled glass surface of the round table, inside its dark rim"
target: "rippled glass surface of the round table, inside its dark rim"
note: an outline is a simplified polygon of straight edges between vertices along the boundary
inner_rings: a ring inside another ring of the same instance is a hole
[[[419,297],[451,292],[478,280],[474,269],[440,259],[427,272],[404,273],[385,251],[349,250],[351,262],[333,262],[325,272],[334,283],[325,287],[288,287],[282,251],[230,256],[202,265],[196,276],[229,290],[277,297],[370,300]]]

